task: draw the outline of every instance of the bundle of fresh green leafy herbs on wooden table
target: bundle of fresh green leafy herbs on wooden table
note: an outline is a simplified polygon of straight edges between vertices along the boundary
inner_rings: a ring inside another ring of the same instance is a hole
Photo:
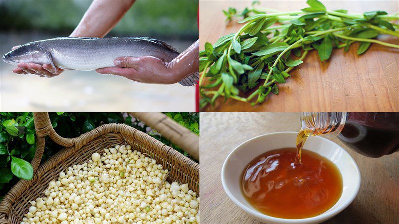
[[[360,42],[358,55],[371,43],[399,48],[375,39],[379,34],[399,37],[399,25],[393,22],[399,19],[399,12],[348,14],[346,10],[329,11],[317,0],[307,4],[308,8],[293,12],[255,7],[256,2],[241,13],[235,8],[223,11],[227,21],[243,16],[239,23],[244,25],[213,46],[205,43],[200,52],[200,106],[214,104],[220,96],[252,105],[264,102],[268,94],[278,94],[277,84],[285,83],[289,72],[313,49],[320,61],[325,61],[333,48],[346,52],[354,42]],[[241,92],[251,94],[245,98]]]

